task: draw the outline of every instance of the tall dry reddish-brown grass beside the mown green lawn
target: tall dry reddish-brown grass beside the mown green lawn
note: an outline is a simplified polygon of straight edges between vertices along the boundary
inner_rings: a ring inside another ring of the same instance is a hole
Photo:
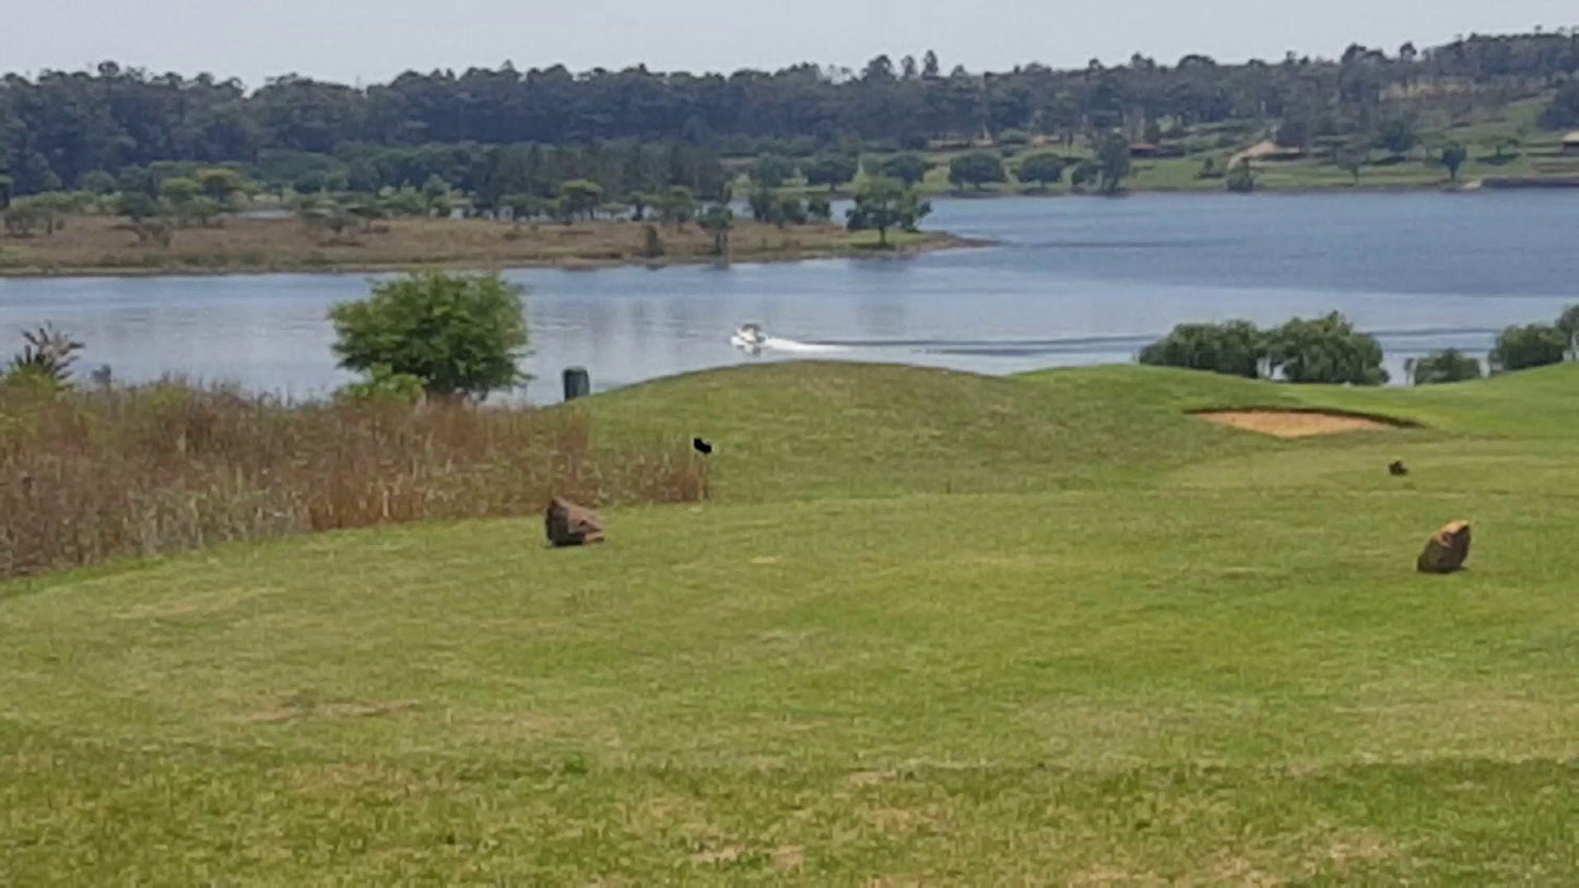
[[[693,502],[685,442],[592,446],[564,410],[287,405],[226,388],[0,385],[0,579],[384,522]]]

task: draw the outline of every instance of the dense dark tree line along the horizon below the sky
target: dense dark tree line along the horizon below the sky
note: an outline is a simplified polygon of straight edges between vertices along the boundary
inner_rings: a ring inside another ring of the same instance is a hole
[[[1579,35],[1568,32],[1470,36],[1426,50],[1404,44],[1393,54],[1352,46],[1337,60],[1290,54],[1243,65],[1203,55],[1164,65],[1137,54],[1121,66],[1093,60],[1082,69],[973,74],[944,73],[927,52],[897,65],[881,55],[862,71],[799,65],[723,76],[507,63],[407,73],[366,88],[284,76],[251,91],[234,79],[104,63],[0,80],[0,175],[28,194],[169,161],[256,166],[292,153],[354,159],[373,148],[613,140],[733,156],[763,153],[767,140],[810,156],[850,140],[921,148],[1012,131],[1069,144],[1110,129],[1145,137],[1157,136],[1161,121],[1266,121],[1279,140],[1307,144],[1369,131],[1399,101],[1506,101],[1576,71]]]

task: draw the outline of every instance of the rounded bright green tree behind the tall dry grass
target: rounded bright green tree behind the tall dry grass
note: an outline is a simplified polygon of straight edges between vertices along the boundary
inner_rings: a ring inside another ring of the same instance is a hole
[[[521,382],[523,290],[497,274],[428,271],[374,284],[330,309],[335,355],[349,371],[406,374],[441,397],[483,399]]]

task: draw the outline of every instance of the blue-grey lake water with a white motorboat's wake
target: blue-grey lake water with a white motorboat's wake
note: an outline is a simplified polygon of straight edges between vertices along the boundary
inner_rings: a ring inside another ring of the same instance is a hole
[[[595,390],[805,356],[1004,374],[1132,361],[1180,322],[1331,309],[1408,356],[1484,355],[1510,323],[1579,301],[1579,192],[1140,194],[938,200],[928,227],[998,246],[729,268],[523,270],[532,401],[586,366]],[[291,396],[344,382],[325,309],[357,274],[0,279],[0,350],[43,322],[117,379],[183,374]],[[729,345],[742,322],[772,336]]]

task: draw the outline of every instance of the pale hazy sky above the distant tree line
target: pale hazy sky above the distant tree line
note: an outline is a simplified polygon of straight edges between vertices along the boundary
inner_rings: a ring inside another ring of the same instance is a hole
[[[935,49],[944,69],[1023,62],[1336,57],[1457,33],[1579,25],[1573,0],[0,0],[0,69],[114,58],[155,71],[300,73],[387,80],[404,69],[510,60],[733,71],[796,62],[859,68]]]

